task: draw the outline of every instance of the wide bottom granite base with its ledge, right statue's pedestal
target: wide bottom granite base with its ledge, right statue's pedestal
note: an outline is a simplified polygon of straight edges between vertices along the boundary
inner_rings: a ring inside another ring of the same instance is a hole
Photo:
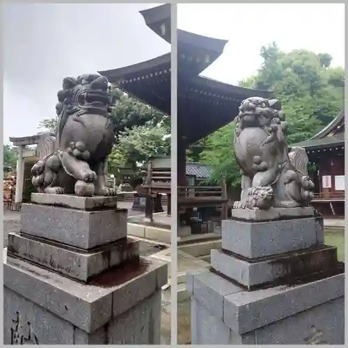
[[[210,271],[189,274],[193,345],[345,343],[345,275],[246,291]]]

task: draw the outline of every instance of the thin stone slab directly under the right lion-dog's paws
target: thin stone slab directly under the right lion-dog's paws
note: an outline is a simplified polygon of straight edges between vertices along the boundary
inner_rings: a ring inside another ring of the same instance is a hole
[[[280,208],[271,207],[271,209],[232,209],[232,219],[240,219],[246,221],[271,221],[289,218],[299,218],[314,216],[313,207],[292,207]]]

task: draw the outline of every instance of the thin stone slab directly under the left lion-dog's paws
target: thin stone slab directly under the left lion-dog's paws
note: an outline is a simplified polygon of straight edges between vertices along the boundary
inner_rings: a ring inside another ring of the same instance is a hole
[[[116,208],[117,197],[61,195],[56,193],[31,193],[31,203],[54,205],[81,210]]]

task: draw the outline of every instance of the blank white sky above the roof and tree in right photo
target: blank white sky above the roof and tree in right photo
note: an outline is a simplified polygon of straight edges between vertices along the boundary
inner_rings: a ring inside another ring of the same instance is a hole
[[[344,4],[179,4],[177,26],[229,40],[223,54],[202,75],[229,84],[255,73],[260,48],[272,41],[285,52],[308,49],[345,65]]]

